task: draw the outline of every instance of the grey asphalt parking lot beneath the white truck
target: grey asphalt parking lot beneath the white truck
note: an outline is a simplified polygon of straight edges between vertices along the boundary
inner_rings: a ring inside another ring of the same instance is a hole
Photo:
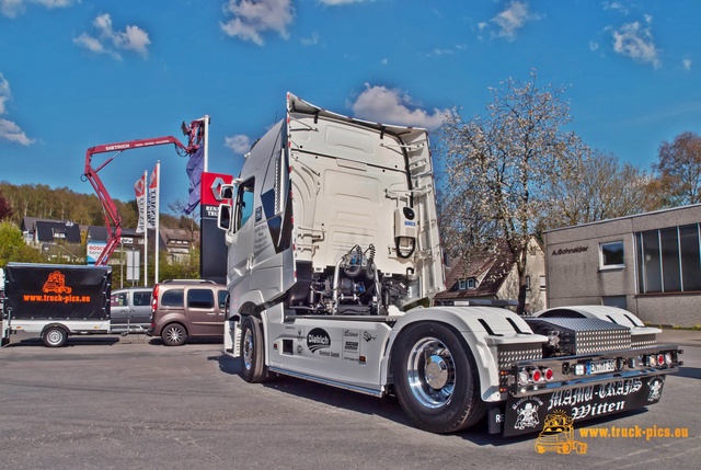
[[[539,455],[537,435],[416,429],[393,399],[291,378],[246,383],[217,342],[165,347],[103,335],[45,348],[13,335],[0,349],[0,468],[696,469],[701,332],[669,331],[660,341],[685,348],[662,402],[579,427],[686,428],[688,437],[579,436],[586,454]]]

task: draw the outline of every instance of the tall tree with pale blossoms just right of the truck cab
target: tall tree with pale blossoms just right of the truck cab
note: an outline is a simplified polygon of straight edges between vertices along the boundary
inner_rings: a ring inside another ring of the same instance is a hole
[[[466,123],[453,110],[439,131],[447,175],[441,225],[449,232],[443,240],[467,262],[478,253],[510,251],[522,313],[528,245],[548,207],[548,185],[558,174],[575,171],[573,156],[583,145],[563,130],[571,121],[561,100],[564,88],[538,88],[535,70],[526,83],[509,78],[502,84],[491,90],[486,117]]]

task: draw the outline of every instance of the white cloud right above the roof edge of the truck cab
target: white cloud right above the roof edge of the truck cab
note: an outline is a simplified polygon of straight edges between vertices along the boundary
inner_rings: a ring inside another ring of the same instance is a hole
[[[449,110],[434,110],[433,114],[421,110],[411,96],[400,90],[365,84],[365,91],[353,103],[354,116],[384,124],[425,127],[440,127]]]

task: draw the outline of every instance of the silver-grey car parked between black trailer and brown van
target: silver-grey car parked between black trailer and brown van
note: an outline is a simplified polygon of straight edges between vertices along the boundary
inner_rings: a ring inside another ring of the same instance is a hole
[[[112,333],[146,333],[151,326],[152,287],[115,289],[110,296]]]

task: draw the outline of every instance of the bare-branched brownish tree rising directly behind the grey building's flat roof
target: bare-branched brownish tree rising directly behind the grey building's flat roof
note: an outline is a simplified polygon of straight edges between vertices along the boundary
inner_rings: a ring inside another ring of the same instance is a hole
[[[651,175],[613,153],[583,149],[567,174],[553,174],[547,190],[550,209],[541,229],[589,223],[659,208]]]

